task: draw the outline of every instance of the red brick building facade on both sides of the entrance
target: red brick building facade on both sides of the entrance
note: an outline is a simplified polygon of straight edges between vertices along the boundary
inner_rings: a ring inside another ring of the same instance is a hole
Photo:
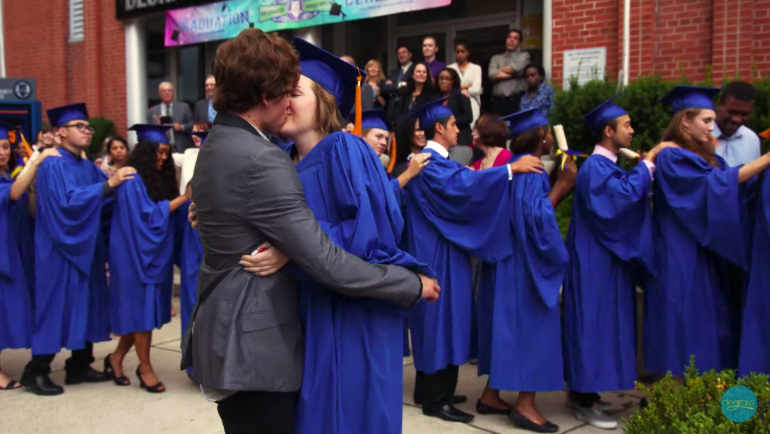
[[[602,46],[607,72],[617,77],[623,0],[550,1],[551,62],[545,67],[551,81],[561,85],[565,50]],[[85,34],[79,42],[69,41],[69,3],[2,2],[7,75],[36,78],[44,110],[83,101],[92,116],[115,121],[125,134],[126,36],[116,2],[82,0]],[[698,81],[709,68],[715,80],[736,70],[743,79],[770,74],[770,0],[632,0],[630,36],[631,80],[657,73]]]

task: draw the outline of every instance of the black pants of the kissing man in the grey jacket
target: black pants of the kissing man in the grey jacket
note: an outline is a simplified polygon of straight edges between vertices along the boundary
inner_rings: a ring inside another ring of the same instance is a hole
[[[225,434],[292,434],[299,392],[238,392],[219,401]]]

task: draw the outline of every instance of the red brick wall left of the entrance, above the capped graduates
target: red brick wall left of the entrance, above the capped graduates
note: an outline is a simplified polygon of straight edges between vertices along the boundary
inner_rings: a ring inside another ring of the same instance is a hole
[[[70,43],[68,1],[3,2],[6,73],[37,79],[45,121],[51,107],[85,102],[90,116],[115,121],[125,136],[123,24],[113,0],[85,0],[84,14],[85,38]]]

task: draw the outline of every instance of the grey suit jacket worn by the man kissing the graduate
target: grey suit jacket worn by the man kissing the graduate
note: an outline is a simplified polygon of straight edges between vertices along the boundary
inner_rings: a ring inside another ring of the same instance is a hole
[[[297,282],[289,267],[259,277],[238,264],[241,255],[265,241],[343,295],[407,307],[420,300],[422,283],[412,271],[369,264],[332,243],[305,204],[289,157],[238,116],[217,114],[196,163],[192,191],[203,263],[182,368],[192,366],[193,377],[205,387],[300,388]]]

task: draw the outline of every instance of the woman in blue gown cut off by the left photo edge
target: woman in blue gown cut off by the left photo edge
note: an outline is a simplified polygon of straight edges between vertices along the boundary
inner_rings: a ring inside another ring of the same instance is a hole
[[[27,190],[35,179],[38,167],[50,156],[48,149],[16,180],[11,173],[17,167],[16,153],[11,149],[9,130],[0,126],[0,351],[29,348],[34,327],[32,287],[24,269],[21,243],[33,240],[23,237],[25,221],[31,219]],[[0,391],[21,387],[0,371]]]

